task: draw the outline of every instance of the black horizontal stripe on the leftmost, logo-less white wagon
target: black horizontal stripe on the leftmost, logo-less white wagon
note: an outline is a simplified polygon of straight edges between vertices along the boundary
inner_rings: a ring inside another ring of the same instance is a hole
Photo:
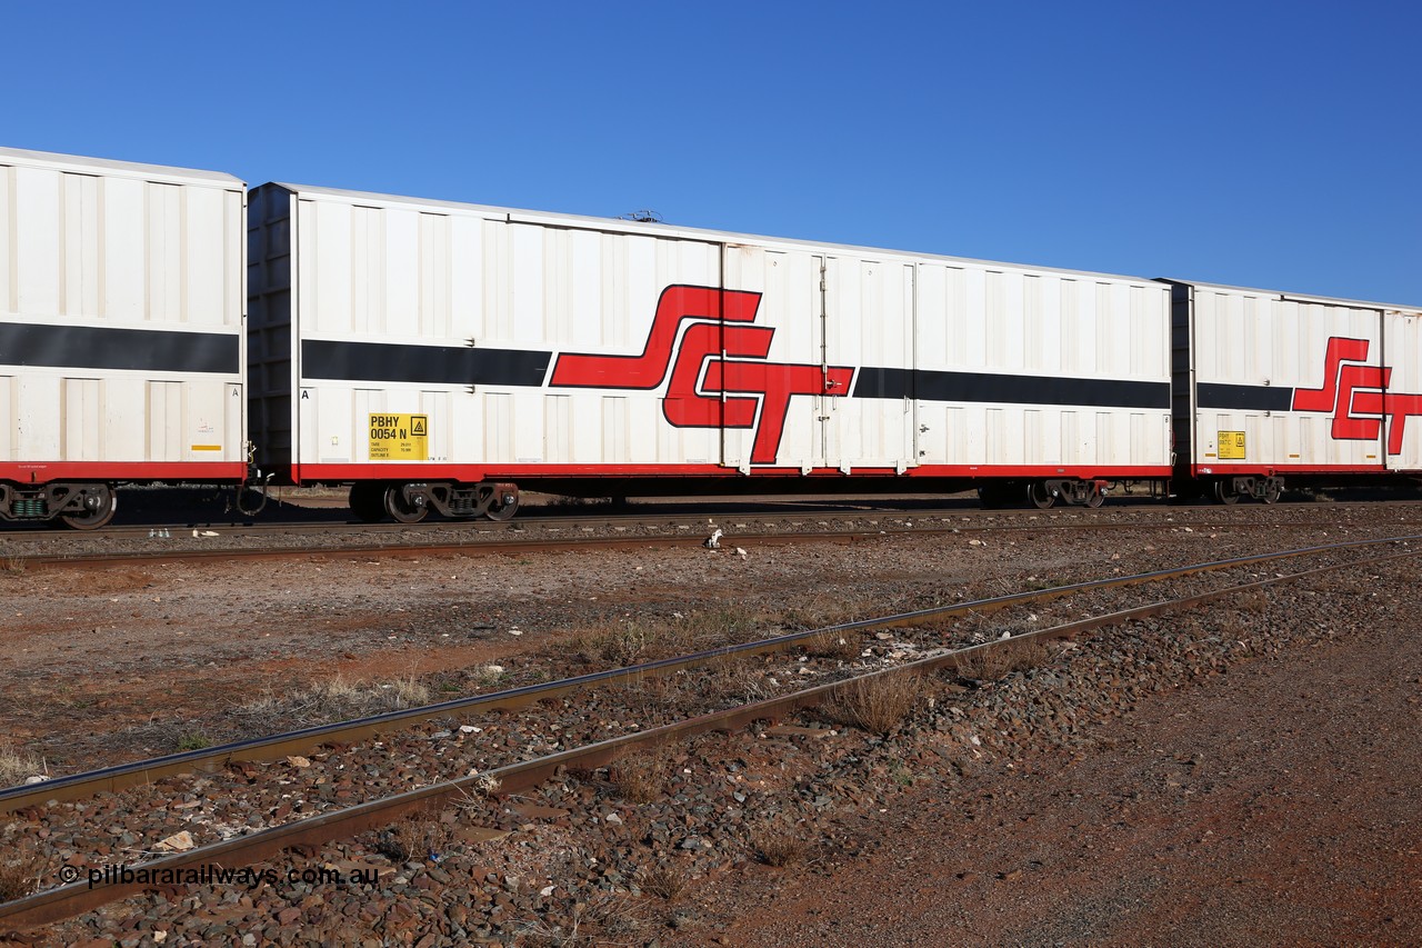
[[[235,333],[0,323],[0,364],[240,374]]]

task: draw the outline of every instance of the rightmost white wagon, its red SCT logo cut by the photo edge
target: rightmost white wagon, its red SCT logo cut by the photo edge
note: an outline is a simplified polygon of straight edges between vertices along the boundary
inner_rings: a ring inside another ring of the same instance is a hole
[[[1422,473],[1422,309],[1172,280],[1176,488]]]

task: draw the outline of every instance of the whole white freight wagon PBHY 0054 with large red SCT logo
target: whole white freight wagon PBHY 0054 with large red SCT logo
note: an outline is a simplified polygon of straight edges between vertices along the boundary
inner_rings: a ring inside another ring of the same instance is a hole
[[[1159,282],[286,184],[249,228],[259,464],[363,517],[1170,474]]]

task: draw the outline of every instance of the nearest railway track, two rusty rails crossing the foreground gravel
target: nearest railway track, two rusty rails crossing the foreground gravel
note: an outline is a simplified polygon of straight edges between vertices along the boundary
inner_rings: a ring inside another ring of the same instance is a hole
[[[216,769],[225,764],[232,764],[233,762],[259,762],[262,759],[276,759],[282,756],[296,754],[303,749],[330,746],[333,743],[344,743],[347,740],[364,740],[373,737],[377,732],[388,733],[390,730],[401,726],[410,725],[417,720],[428,720],[431,717],[438,720],[451,719],[454,715],[469,713],[474,710],[488,712],[495,707],[502,707],[505,710],[513,710],[518,707],[529,707],[535,705],[557,705],[560,700],[567,700],[567,696],[584,692],[590,688],[603,688],[614,685],[627,685],[631,682],[647,682],[656,676],[675,676],[678,673],[685,675],[688,670],[695,668],[704,668],[711,663],[725,663],[734,658],[745,656],[765,656],[765,655],[785,655],[788,651],[793,649],[796,645],[805,645],[813,638],[823,639],[828,636],[853,636],[857,635],[865,638],[867,633],[883,629],[914,629],[919,632],[926,632],[927,638],[923,642],[931,642],[934,636],[943,641],[946,629],[940,625],[946,619],[954,616],[981,616],[997,611],[1010,611],[1012,608],[1031,606],[1041,609],[1042,605],[1051,599],[1059,599],[1062,596],[1072,596],[1074,608],[1078,606],[1078,599],[1085,595],[1102,595],[1111,591],[1118,591],[1122,588],[1129,588],[1143,584],[1173,584],[1183,582],[1192,578],[1217,572],[1221,569],[1258,569],[1266,565],[1280,562],[1283,559],[1291,559],[1298,557],[1320,557],[1331,558],[1332,562],[1327,562],[1322,567],[1310,571],[1301,571],[1290,575],[1276,575],[1266,579],[1253,579],[1246,584],[1234,584],[1224,589],[1193,589],[1193,591],[1179,591],[1176,589],[1172,598],[1163,601],[1155,601],[1145,605],[1132,605],[1126,609],[1113,609],[1109,612],[1102,612],[1089,619],[1075,619],[1071,622],[1059,622],[1048,628],[1030,631],[1022,628],[1018,622],[1015,628],[1010,629],[1014,632],[1010,638],[1003,641],[988,641],[983,643],[973,642],[948,642],[947,645],[939,645],[936,648],[899,648],[903,645],[902,641],[894,641],[894,651],[899,652],[897,660],[887,662],[883,668],[867,670],[863,675],[846,675],[836,680],[828,680],[823,683],[813,685],[811,688],[788,688],[784,693],[764,697],[761,700],[752,702],[737,702],[728,707],[717,709],[705,715],[691,715],[681,720],[654,723],[651,726],[638,727],[636,733],[620,734],[611,739],[597,740],[589,736],[582,736],[577,739],[577,746],[556,749],[552,753],[540,753],[529,760],[515,760],[498,763],[495,760],[481,759],[482,766],[474,767],[478,773],[474,776],[465,776],[459,779],[449,780],[448,777],[434,777],[428,786],[407,790],[404,793],[395,793],[385,800],[370,800],[354,807],[346,807],[343,810],[333,810],[330,813],[320,813],[317,816],[297,820],[294,823],[287,823],[283,826],[260,828],[250,836],[243,836],[239,838],[230,838],[210,846],[199,847],[192,853],[186,853],[181,857],[169,857],[166,860],[154,861],[152,867],[169,867],[179,868],[183,865],[202,864],[203,860],[225,861],[232,864],[233,860],[242,858],[252,860],[266,858],[273,855],[282,848],[296,846],[296,844],[317,844],[327,841],[330,838],[338,838],[343,836],[350,836],[360,833],[365,828],[373,828],[377,826],[388,824],[401,813],[408,813],[418,807],[435,806],[442,800],[449,800],[459,796],[475,796],[481,794],[481,789],[486,790],[491,786],[491,780],[496,780],[501,793],[512,793],[519,789],[525,789],[539,783],[542,779],[553,773],[559,766],[577,766],[577,767],[596,767],[602,766],[631,746],[641,742],[658,742],[658,740],[673,740],[687,734],[700,733],[708,729],[725,729],[737,727],[742,723],[764,719],[764,717],[779,717],[792,712],[796,707],[805,705],[813,705],[826,697],[850,688],[855,680],[873,678],[877,675],[889,675],[909,670],[930,670],[934,668],[944,666],[963,666],[967,662],[974,660],[975,656],[1001,648],[1014,648],[1024,641],[1031,639],[1051,639],[1074,636],[1084,631],[1101,628],[1103,625],[1113,625],[1121,622],[1128,622],[1132,619],[1139,619],[1146,615],[1155,615],[1167,609],[1177,609],[1182,606],[1206,602],[1210,599],[1217,599],[1220,596],[1239,596],[1249,591],[1260,589],[1271,582],[1281,582],[1290,579],[1298,579],[1300,576],[1318,575],[1322,571],[1340,569],[1348,567],[1358,567],[1368,562],[1378,562],[1388,558],[1409,557],[1413,555],[1411,549],[1395,551],[1384,557],[1375,557],[1372,559],[1359,559],[1355,554],[1365,547],[1376,545],[1395,545],[1406,547],[1415,544],[1418,537],[1395,537],[1389,539],[1374,539],[1374,541],[1355,541],[1348,544],[1334,544],[1327,547],[1313,547],[1293,551],[1283,551],[1278,554],[1258,555],[1258,557],[1244,557],[1230,561],[1217,561],[1212,564],[1197,564],[1194,567],[1185,567],[1179,569],[1160,571],[1155,574],[1142,574],[1138,576],[1122,576],[1111,581],[1079,584],[1076,586],[1062,586],[1057,589],[1031,591],[1022,594],[1014,594],[1008,596],[998,596],[994,599],[984,599],[977,602],[966,602],[953,606],[944,606],[937,609],[919,611],[913,613],[902,613],[894,616],[883,616],[879,619],[870,619],[865,622],[849,623],[843,626],[833,626],[832,629],[819,629],[811,632],[801,632],[786,636],[779,636],[776,639],[759,641],[738,646],[728,646],[722,649],[714,649],[711,652],[702,652],[697,655],[680,656],[677,659],[668,659],[665,662],[656,662],[647,666],[638,666],[633,669],[620,669],[617,672],[603,672],[592,676],[583,676],[582,679],[570,679],[565,682],[555,682],[545,686],[516,689],[513,692],[503,692],[495,695],[485,695],[474,699],[465,699],[461,702],[449,702],[445,705],[415,709],[411,712],[400,715],[385,715],[377,719],[368,719],[363,722],[351,722],[346,725],[334,725],[326,729],[310,729],[309,732],[301,732],[297,734],[283,734],[273,739],[266,739],[264,742],[246,742],[243,744],[235,744],[222,749],[213,749],[212,752],[195,753],[195,754],[181,754],[168,759],[161,759],[155,762],[144,762],[142,764],[131,764],[127,769],[111,769],[109,771],[98,771],[95,774],[85,774],[81,777],[68,779],[65,781],[54,781],[53,784],[43,784],[40,787],[30,789],[28,791],[7,791],[0,797],[0,804],[7,809],[37,806],[36,800],[53,800],[58,799],[57,794],[73,794],[68,799],[80,799],[84,796],[91,796],[94,791],[101,789],[117,789],[128,781],[129,786],[135,781],[144,780],[161,780],[166,774],[192,771],[195,769]],[[1094,609],[1098,609],[1108,602],[1094,604]],[[1032,616],[1037,621],[1039,616]],[[960,638],[963,635],[995,635],[995,628],[975,628],[975,629],[958,629]],[[948,636],[951,638],[951,636]],[[867,641],[867,639],[866,639]],[[877,641],[877,636],[876,636]],[[920,643],[923,643],[920,642]],[[803,659],[802,659],[803,660]],[[785,668],[781,665],[779,668]],[[793,668],[793,663],[789,663]],[[786,675],[784,672],[774,672],[772,675],[779,675],[782,679],[793,680],[793,675]],[[565,742],[566,743],[566,742]],[[461,767],[466,762],[461,762]],[[493,766],[491,766],[493,764]],[[164,767],[171,770],[164,771]],[[28,793],[28,796],[24,796]],[[78,891],[70,891],[78,890]],[[47,892],[40,892],[23,900],[20,902],[13,902],[10,905],[0,907],[0,922],[13,925],[31,925],[43,924],[44,921],[53,921],[70,914],[85,911],[90,907],[98,905],[111,898],[122,897],[124,894],[132,891],[134,887],[125,888],[124,884],[115,885],[101,885],[97,888],[87,888],[85,885],[68,887],[68,890],[50,890]],[[68,895],[64,895],[70,891]],[[98,892],[98,894],[95,894]],[[75,900],[75,901],[68,901]]]

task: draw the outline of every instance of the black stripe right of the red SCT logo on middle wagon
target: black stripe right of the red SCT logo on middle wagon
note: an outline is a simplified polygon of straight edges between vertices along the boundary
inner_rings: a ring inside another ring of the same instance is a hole
[[[987,372],[860,369],[857,399],[993,401],[1000,404],[1079,404],[1118,409],[1170,407],[1170,383],[1126,379],[1058,379]]]

